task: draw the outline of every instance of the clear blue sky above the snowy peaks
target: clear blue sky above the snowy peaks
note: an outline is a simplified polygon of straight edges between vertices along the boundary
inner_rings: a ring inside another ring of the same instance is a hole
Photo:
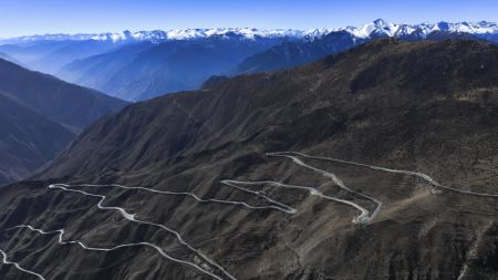
[[[498,21],[497,0],[1,0],[0,38],[177,28]]]

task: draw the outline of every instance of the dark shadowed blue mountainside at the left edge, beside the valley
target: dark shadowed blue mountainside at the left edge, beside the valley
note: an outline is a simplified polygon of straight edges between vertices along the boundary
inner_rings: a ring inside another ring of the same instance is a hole
[[[53,159],[86,125],[125,102],[0,60],[0,185]]]

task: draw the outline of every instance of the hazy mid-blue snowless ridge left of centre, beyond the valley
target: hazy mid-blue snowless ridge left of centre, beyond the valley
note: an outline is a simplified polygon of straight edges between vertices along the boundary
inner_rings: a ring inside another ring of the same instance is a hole
[[[286,38],[240,35],[139,43],[75,61],[59,73],[68,81],[113,96],[139,101],[165,93],[194,90],[211,75],[227,72],[243,59]]]

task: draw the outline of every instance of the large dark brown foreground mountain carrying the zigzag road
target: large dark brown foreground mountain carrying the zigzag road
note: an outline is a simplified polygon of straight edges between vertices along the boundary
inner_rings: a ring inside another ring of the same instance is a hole
[[[383,40],[133,104],[3,187],[0,228],[34,228],[0,249],[46,279],[496,279],[497,76],[496,45]]]

